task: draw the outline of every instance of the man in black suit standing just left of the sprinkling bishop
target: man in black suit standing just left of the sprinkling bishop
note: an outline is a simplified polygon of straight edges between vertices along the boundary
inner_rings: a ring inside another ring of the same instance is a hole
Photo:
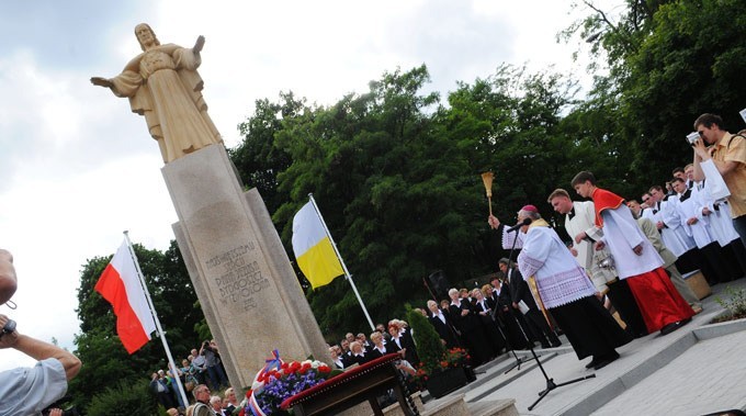
[[[521,272],[516,268],[508,267],[508,259],[501,258],[499,261],[500,270],[506,274],[510,286],[510,306],[515,311],[520,311],[520,303],[523,302],[529,311],[523,314],[528,324],[529,330],[541,342],[542,348],[560,347],[562,341],[554,334],[550,325],[546,323],[544,315],[539,311],[536,302],[533,300],[529,284],[523,280]],[[547,339],[549,338],[549,339]]]

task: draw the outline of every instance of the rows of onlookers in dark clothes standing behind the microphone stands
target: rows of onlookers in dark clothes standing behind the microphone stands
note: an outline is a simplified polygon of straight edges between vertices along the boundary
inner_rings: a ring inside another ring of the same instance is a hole
[[[500,268],[490,284],[471,291],[451,289],[450,301],[431,300],[427,308],[415,310],[428,317],[447,348],[466,348],[473,366],[488,362],[513,348],[562,345],[520,272],[508,259],[500,261]],[[527,310],[522,311],[522,307]],[[332,364],[338,369],[364,364],[393,352],[402,355],[400,369],[414,375],[419,363],[417,346],[408,324],[396,318],[387,326],[376,325],[370,336],[348,333],[338,344],[329,346]]]

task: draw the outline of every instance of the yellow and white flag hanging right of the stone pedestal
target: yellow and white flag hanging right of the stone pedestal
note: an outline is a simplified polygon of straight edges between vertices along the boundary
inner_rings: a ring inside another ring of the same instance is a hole
[[[344,274],[331,237],[313,200],[293,217],[293,251],[310,286],[316,289]]]

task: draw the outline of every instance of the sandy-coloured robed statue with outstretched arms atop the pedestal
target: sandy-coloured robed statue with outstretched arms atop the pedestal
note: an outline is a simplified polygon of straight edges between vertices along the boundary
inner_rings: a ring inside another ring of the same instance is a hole
[[[171,162],[205,146],[223,143],[207,115],[203,81],[196,68],[205,38],[194,47],[161,45],[149,25],[135,26],[143,53],[114,78],[91,78],[94,86],[127,97],[134,113],[145,116],[150,136],[158,142],[163,162]]]

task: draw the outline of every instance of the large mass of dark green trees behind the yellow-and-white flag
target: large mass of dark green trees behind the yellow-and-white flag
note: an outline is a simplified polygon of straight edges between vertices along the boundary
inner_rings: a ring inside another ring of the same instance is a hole
[[[378,322],[402,316],[407,301],[429,297],[422,281],[436,270],[453,284],[494,270],[499,252],[486,226],[483,171],[496,172],[495,211],[511,221],[521,205],[541,203],[556,188],[575,151],[569,147],[577,147],[561,131],[574,85],[556,75],[502,66],[474,85],[461,82],[449,108],[422,93],[428,81],[425,66],[386,72],[366,93],[328,108],[274,112],[272,134],[252,137],[265,108],[286,104],[263,102],[241,127],[240,151],[258,146],[289,155],[286,169],[274,171],[274,192],[284,201],[273,213],[289,252],[292,217],[313,193]],[[272,164],[257,161],[240,175]],[[572,176],[563,175],[568,182]],[[346,280],[309,291],[308,299],[325,334],[365,328]]]

